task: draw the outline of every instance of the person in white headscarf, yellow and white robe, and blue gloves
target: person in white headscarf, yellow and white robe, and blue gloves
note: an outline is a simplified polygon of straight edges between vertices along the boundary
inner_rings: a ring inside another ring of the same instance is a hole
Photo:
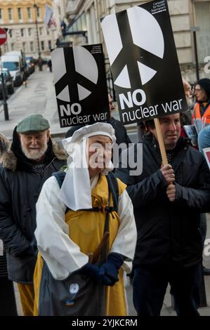
[[[63,185],[60,188],[55,176],[49,178],[37,202],[35,236],[39,256],[34,273],[34,315],[67,315],[62,303],[55,308],[61,294],[58,288],[79,272],[89,275],[95,286],[98,283],[105,286],[104,315],[126,315],[123,273],[131,271],[136,224],[126,185],[118,179],[118,208],[109,216],[107,258],[100,265],[93,265],[89,258],[90,255],[93,259],[96,257],[104,235],[105,210],[107,206],[113,206],[106,175],[113,168],[111,149],[114,142],[114,129],[105,123],[84,126],[75,131],[72,138],[63,140],[70,155]],[[88,211],[90,209],[92,211]],[[45,293],[42,291],[46,290],[49,279],[44,276],[44,270],[52,277],[51,289]],[[77,293],[79,285],[72,284],[70,293]],[[64,303],[69,308],[74,304],[72,301]]]

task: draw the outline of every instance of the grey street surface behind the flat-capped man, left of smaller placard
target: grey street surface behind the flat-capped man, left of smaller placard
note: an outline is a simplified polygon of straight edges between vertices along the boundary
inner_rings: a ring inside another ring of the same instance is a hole
[[[42,114],[51,124],[51,134],[65,136],[68,128],[60,128],[53,73],[44,66],[27,79],[27,86],[20,86],[8,99],[9,120],[4,119],[4,107],[0,107],[0,132],[12,138],[14,127],[28,114]]]

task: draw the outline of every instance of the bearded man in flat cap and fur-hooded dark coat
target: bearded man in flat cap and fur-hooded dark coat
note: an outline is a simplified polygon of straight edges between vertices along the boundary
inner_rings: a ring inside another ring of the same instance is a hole
[[[11,147],[1,156],[0,238],[8,278],[18,283],[25,316],[34,313],[37,199],[46,179],[66,164],[65,151],[52,143],[49,128],[41,114],[25,117],[13,131]]]

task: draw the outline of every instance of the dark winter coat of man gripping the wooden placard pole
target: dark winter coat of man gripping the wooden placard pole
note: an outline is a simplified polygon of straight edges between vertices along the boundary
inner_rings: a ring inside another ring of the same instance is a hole
[[[134,207],[138,230],[134,265],[188,267],[202,260],[199,214],[210,211],[209,169],[189,140],[180,138],[171,163],[176,200],[170,202],[161,164],[157,141],[149,135],[143,140],[143,172],[129,176],[129,168],[116,171],[128,185]]]

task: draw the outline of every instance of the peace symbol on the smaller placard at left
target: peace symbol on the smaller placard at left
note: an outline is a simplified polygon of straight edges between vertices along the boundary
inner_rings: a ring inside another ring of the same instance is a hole
[[[70,53],[72,51],[72,53]],[[65,52],[67,60],[65,60]],[[74,70],[72,63],[70,65],[70,55],[74,62]],[[51,52],[53,63],[54,83],[56,97],[67,103],[73,103],[71,106],[72,113],[78,107],[78,100],[84,100],[91,95],[98,82],[98,67],[93,55],[82,46],[74,46],[73,48],[55,48]],[[71,83],[68,81],[71,79]],[[82,81],[82,83],[81,83]],[[78,114],[77,110],[77,114]]]

